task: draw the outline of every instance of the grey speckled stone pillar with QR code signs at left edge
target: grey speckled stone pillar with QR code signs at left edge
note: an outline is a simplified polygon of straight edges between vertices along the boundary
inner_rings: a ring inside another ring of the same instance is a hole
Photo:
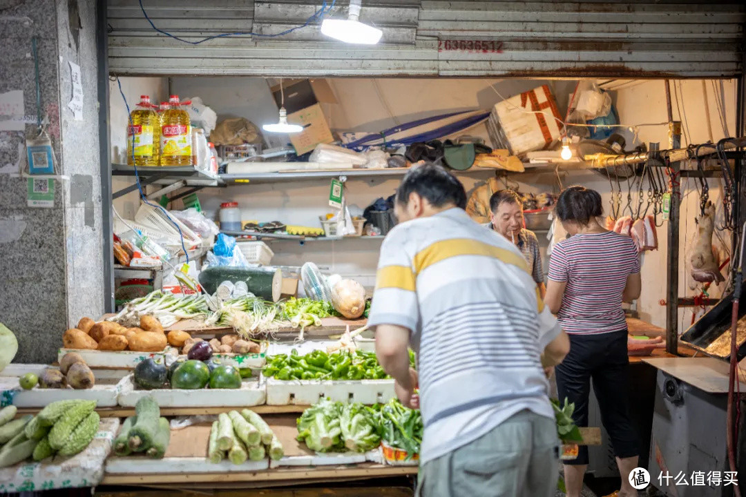
[[[27,124],[25,130],[7,130],[1,121],[13,111],[0,106],[0,322],[16,333],[16,361],[48,363],[66,328],[104,311],[96,4],[10,5],[0,13],[0,94],[22,90],[23,112],[13,119]],[[37,130],[34,37],[40,112],[57,162],[51,208],[30,207],[27,199],[25,139]],[[68,107],[70,62],[81,68],[81,120]]]

